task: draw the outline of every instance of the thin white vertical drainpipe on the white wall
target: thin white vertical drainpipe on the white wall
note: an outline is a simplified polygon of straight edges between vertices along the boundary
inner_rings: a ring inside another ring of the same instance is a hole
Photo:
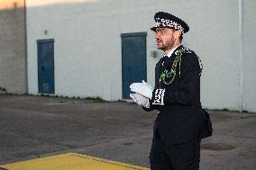
[[[239,0],[239,67],[240,67],[240,101],[239,111],[243,111],[243,0]]]

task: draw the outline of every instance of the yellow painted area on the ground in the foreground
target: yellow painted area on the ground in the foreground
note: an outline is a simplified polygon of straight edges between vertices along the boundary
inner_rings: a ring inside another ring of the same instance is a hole
[[[0,166],[7,170],[150,170],[77,153],[42,157]]]

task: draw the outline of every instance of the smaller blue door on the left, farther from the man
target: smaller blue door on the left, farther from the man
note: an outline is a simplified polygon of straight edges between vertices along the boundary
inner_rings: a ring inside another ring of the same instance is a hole
[[[38,92],[54,94],[54,40],[37,40]]]

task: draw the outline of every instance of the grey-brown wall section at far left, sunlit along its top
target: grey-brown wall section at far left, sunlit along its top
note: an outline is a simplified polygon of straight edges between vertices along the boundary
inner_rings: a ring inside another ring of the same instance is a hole
[[[0,93],[27,92],[24,14],[24,0],[1,1]]]

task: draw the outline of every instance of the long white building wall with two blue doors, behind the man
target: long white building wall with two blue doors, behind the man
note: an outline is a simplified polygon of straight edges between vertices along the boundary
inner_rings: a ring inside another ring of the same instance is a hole
[[[36,40],[53,38],[56,94],[122,99],[120,35],[140,31],[148,32],[147,81],[153,85],[154,67],[162,52],[158,51],[157,58],[151,58],[151,50],[156,50],[156,45],[150,28],[155,24],[154,13],[165,11],[184,19],[190,26],[183,44],[195,50],[204,65],[201,78],[203,107],[240,110],[243,97],[245,109],[256,112],[253,104],[256,92],[247,83],[250,80],[247,77],[255,70],[251,52],[255,46],[255,16],[245,19],[243,24],[244,41],[248,41],[244,42],[243,58],[246,59],[243,64],[247,66],[248,63],[250,67],[243,71],[244,95],[241,97],[239,0],[37,2],[40,0],[26,1],[30,94],[38,93]],[[249,0],[243,4],[244,17],[253,15],[255,2]]]

